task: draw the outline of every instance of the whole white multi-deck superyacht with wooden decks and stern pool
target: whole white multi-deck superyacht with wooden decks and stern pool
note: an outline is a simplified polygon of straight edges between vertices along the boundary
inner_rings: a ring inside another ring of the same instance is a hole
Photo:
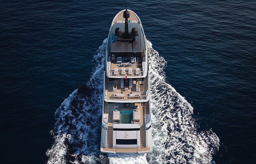
[[[152,152],[146,38],[132,10],[113,18],[104,66],[100,151]]]

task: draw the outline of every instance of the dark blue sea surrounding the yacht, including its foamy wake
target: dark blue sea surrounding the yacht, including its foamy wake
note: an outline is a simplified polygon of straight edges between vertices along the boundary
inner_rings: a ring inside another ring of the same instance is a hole
[[[99,152],[103,61],[115,14],[140,17],[153,152]],[[0,5],[0,163],[255,163],[256,2]]]

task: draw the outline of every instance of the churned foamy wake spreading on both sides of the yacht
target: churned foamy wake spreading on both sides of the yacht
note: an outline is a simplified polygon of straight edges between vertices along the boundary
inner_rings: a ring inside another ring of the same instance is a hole
[[[166,61],[146,41],[150,73],[153,152],[102,154],[100,132],[106,39],[94,54],[89,81],[57,108],[54,138],[47,163],[213,163],[219,139],[212,130],[198,131],[193,107],[165,82]]]

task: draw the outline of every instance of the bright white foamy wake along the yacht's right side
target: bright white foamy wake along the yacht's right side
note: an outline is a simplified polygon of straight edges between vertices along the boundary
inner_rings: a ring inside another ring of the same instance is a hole
[[[218,137],[211,130],[197,130],[192,106],[165,82],[166,61],[149,41],[147,47],[154,147],[149,162],[210,163],[219,147]]]

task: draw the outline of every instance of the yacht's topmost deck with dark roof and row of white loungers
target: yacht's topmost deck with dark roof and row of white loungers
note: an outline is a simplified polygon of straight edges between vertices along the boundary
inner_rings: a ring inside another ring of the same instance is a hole
[[[125,18],[120,11],[113,18],[107,40],[105,70],[106,76],[123,78],[125,76],[141,78],[147,74],[147,51],[145,35],[138,16],[131,10],[128,18],[128,31],[137,29],[137,35],[124,39],[115,35],[115,29],[125,31]],[[132,38],[132,39],[131,39]]]

